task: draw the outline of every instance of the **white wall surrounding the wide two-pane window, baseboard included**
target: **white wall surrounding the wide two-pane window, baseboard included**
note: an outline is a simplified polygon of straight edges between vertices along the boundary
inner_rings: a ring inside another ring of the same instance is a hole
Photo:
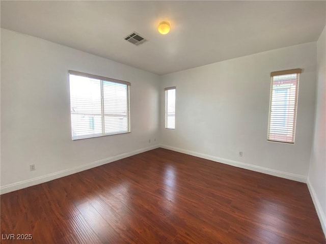
[[[72,141],[68,70],[131,82],[131,133]],[[2,193],[155,147],[158,82],[152,73],[1,29]]]

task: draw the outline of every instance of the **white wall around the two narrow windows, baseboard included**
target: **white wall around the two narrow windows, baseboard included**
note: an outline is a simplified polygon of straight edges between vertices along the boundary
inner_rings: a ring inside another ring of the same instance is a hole
[[[295,144],[268,142],[270,72],[302,68]],[[306,181],[314,120],[316,43],[162,76],[161,144],[243,168]],[[164,129],[164,87],[176,86],[176,129]],[[243,151],[243,157],[239,157]]]

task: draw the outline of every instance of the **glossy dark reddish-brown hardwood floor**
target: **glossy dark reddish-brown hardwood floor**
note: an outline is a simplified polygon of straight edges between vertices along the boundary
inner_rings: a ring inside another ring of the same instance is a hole
[[[326,243],[306,184],[161,148],[2,195],[1,233],[2,243]]]

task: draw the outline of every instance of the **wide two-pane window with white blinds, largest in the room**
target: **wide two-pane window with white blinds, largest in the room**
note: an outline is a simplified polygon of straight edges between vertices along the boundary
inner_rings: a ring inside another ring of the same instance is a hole
[[[130,132],[126,81],[69,71],[72,140]]]

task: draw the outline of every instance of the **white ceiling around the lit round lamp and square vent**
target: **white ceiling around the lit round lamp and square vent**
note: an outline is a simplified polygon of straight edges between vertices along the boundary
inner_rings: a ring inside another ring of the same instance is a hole
[[[325,1],[1,1],[3,28],[159,75],[316,41],[325,15]]]

